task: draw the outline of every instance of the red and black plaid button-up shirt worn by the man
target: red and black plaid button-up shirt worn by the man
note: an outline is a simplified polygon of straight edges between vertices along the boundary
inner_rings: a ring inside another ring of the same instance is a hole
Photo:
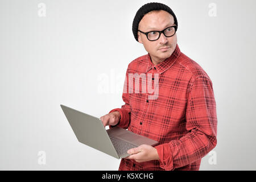
[[[149,100],[154,93],[135,92],[134,85],[131,93],[128,84],[122,94],[125,105],[109,113],[121,113],[117,126],[157,140],[160,160],[137,163],[122,159],[119,170],[199,170],[201,158],[217,144],[216,102],[207,73],[180,52],[178,45],[168,59],[157,65],[152,64],[149,53],[132,61],[126,84],[129,73],[151,73],[152,77],[158,73],[158,97]]]

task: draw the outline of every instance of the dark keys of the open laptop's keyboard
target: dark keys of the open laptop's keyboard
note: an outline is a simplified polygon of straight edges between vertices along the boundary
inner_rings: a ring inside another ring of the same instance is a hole
[[[115,150],[117,151],[117,154],[119,155],[119,157],[129,156],[129,154],[127,154],[127,151],[130,148],[138,147],[138,146],[135,146],[134,144],[125,142],[125,140],[121,140],[117,137],[109,136],[109,138],[112,141],[113,146],[115,147]]]

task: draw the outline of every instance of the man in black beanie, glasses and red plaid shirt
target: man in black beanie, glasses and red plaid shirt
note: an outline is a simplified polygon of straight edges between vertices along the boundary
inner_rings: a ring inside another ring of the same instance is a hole
[[[148,54],[127,68],[125,105],[101,121],[104,126],[122,127],[157,140],[159,145],[130,149],[131,155],[121,160],[119,170],[199,170],[201,158],[217,144],[212,81],[199,64],[180,52],[176,30],[175,14],[162,3],[147,3],[135,15],[134,37]],[[142,88],[134,89],[138,80],[131,75],[136,74],[153,75],[151,81],[158,86],[155,97],[150,99],[152,93],[142,92],[143,76]]]

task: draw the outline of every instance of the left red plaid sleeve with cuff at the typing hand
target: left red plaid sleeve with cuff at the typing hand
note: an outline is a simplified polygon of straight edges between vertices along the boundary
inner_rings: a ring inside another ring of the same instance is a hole
[[[125,84],[123,86],[123,94],[122,94],[122,99],[123,99],[123,102],[125,102],[125,104],[122,105],[121,108],[116,108],[109,111],[109,113],[112,113],[114,111],[119,111],[119,113],[121,114],[121,119],[119,123],[115,126],[122,127],[123,129],[128,128],[128,126],[130,125],[130,119],[131,119],[131,109],[129,104],[130,94],[129,94],[129,88],[127,86],[128,74],[129,74],[129,66],[126,71]],[[114,127],[114,126],[109,126],[109,127]]]

